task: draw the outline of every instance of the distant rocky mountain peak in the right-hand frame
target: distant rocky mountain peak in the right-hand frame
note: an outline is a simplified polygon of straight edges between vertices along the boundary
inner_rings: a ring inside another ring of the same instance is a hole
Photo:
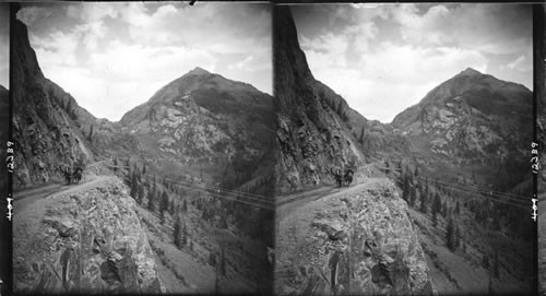
[[[495,163],[523,157],[532,132],[532,92],[466,69],[397,115],[402,134],[430,142],[454,163]]]

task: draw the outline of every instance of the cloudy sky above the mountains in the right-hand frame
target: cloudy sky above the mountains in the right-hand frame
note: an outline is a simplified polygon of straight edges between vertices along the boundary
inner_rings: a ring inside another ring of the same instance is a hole
[[[531,5],[293,5],[313,76],[391,122],[466,68],[533,87]]]

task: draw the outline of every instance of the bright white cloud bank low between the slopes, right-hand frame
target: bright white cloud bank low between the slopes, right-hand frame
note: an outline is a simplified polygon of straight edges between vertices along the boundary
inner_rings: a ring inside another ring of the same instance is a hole
[[[478,51],[420,48],[382,43],[376,52],[352,67],[336,68],[329,52],[306,50],[313,75],[370,119],[390,122],[441,82],[472,67],[486,72],[488,59]],[[438,67],[441,64],[441,67]]]

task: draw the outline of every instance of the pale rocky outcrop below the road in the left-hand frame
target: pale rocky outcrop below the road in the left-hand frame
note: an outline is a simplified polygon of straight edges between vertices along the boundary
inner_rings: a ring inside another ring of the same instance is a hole
[[[97,179],[17,213],[13,273],[19,293],[161,293],[135,202],[120,180]]]

